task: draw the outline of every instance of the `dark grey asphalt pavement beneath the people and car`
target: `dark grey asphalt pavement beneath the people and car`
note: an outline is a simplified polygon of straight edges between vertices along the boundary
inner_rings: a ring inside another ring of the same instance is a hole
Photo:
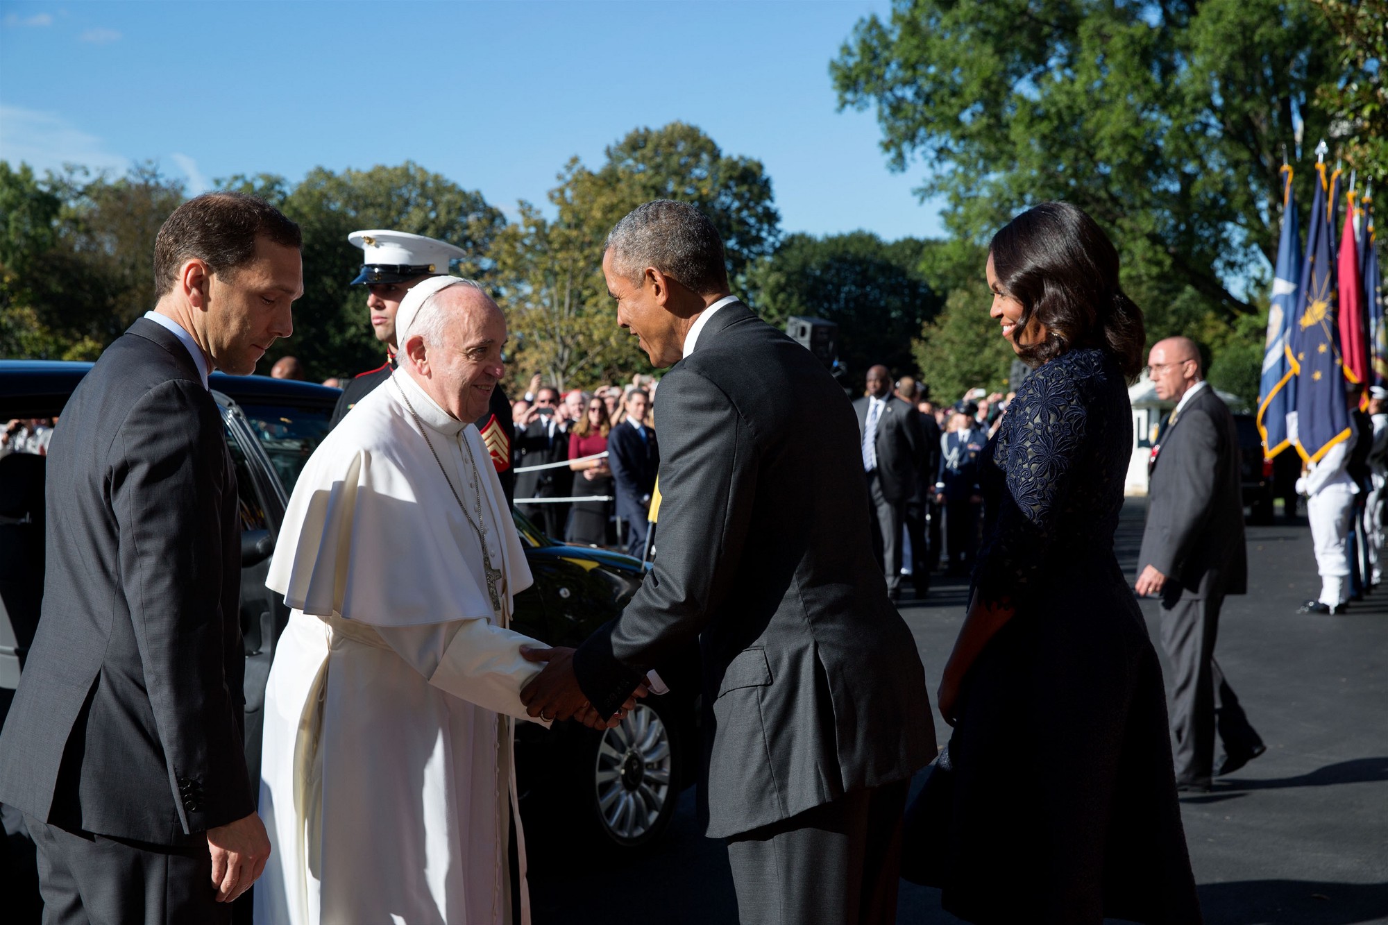
[[[1119,529],[1130,581],[1144,517],[1145,503],[1130,501]],[[1267,753],[1181,800],[1205,922],[1388,922],[1388,586],[1342,617],[1296,614],[1320,589],[1305,519],[1251,526],[1248,543],[1249,593],[1226,600],[1216,657]],[[966,590],[937,576],[926,600],[901,606],[931,693]],[[1158,607],[1142,608],[1155,642]],[[938,717],[936,732],[948,739]],[[561,826],[527,828],[536,925],[736,922],[727,853],[700,833],[693,796],[665,838],[630,856],[575,850]],[[901,888],[898,922],[959,922],[937,890]]]

